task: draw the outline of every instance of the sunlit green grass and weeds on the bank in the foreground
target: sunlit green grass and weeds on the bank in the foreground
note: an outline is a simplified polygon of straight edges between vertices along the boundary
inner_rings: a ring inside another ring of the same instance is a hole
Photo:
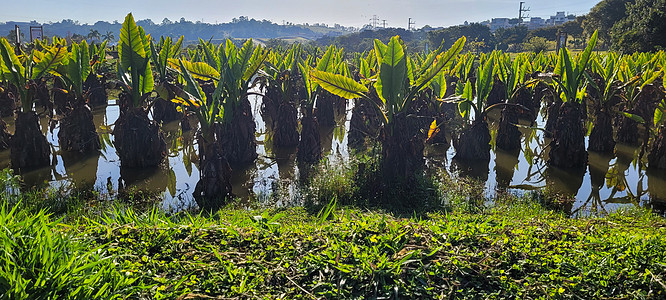
[[[349,203],[362,195],[339,186],[354,182],[344,175],[350,169],[313,179],[307,197],[335,199],[317,209],[231,204],[214,213],[175,214],[76,194],[66,200],[74,203],[69,211],[49,210],[56,200],[39,206],[43,194],[17,194],[5,176],[0,299],[660,299],[666,293],[666,221],[648,210],[570,218],[543,206],[543,195],[505,195],[483,205],[474,183],[444,178],[433,197],[440,209],[408,216]]]

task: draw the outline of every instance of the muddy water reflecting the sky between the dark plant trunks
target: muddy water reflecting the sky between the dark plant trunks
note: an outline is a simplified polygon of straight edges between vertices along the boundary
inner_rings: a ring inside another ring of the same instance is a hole
[[[289,186],[289,183],[299,178],[300,171],[295,162],[296,149],[273,149],[259,112],[261,99],[250,96],[250,102],[257,123],[259,157],[254,164],[234,170],[233,192],[244,199],[270,202],[274,201],[270,197],[273,191],[280,186]],[[349,103],[346,110],[336,113],[338,126],[321,129],[323,150],[330,161],[349,157],[347,132],[351,108],[352,104]],[[52,166],[21,174],[27,186],[74,183],[92,187],[100,194],[109,196],[122,189],[140,189],[161,194],[165,208],[180,209],[196,205],[192,192],[199,171],[194,131],[181,132],[178,122],[165,124],[162,129],[169,151],[164,165],[145,169],[121,168],[113,147],[113,135],[110,134],[119,115],[118,105],[110,100],[108,106],[94,109],[93,114],[95,125],[102,136],[103,149],[100,153],[87,156],[61,153],[57,141],[58,127],[50,128],[48,120],[42,119],[43,132],[53,145]],[[496,130],[497,116],[491,116],[490,120],[491,130]],[[9,118],[5,121],[10,125],[10,131],[13,130],[13,120]],[[537,123],[543,128],[545,120],[539,118]],[[547,153],[543,149],[547,149],[550,141],[540,131],[521,131],[523,146],[520,152],[493,150],[489,163],[469,165],[453,160],[453,147],[428,146],[427,165],[456,176],[471,176],[485,182],[486,194],[490,197],[497,191],[521,193],[545,187],[575,195],[576,201],[571,207],[574,213],[603,213],[633,205],[663,206],[662,201],[666,200],[666,172],[642,169],[636,159],[639,149],[618,145],[616,155],[590,153],[585,170],[566,171],[546,165]],[[9,167],[9,150],[0,152],[0,168],[6,167]]]

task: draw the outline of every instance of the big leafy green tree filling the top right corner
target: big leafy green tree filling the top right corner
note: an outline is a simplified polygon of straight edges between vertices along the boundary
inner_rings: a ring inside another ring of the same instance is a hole
[[[666,49],[666,0],[636,0],[611,32],[613,47],[624,52]]]

